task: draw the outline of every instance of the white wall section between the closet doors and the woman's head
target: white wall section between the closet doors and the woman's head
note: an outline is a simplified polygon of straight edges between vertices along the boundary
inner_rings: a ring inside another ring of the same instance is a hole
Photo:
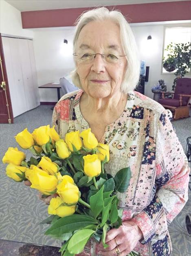
[[[59,82],[73,68],[72,40],[75,27],[34,29],[38,84]],[[68,44],[64,43],[64,38]],[[57,101],[56,89],[39,89],[40,101]]]

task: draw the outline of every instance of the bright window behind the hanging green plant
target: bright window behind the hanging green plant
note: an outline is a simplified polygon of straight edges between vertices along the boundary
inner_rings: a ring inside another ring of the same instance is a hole
[[[191,27],[166,27],[164,37],[162,57],[166,59],[168,52],[165,51],[165,49],[167,45],[170,43],[188,43],[191,41]],[[190,71],[190,69],[188,71]],[[176,70],[168,72],[162,66],[163,74],[172,74],[174,72],[176,72]]]

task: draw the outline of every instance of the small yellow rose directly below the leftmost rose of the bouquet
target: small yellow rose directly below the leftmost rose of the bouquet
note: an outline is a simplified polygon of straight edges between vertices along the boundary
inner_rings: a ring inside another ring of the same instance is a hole
[[[27,170],[26,167],[24,166],[17,166],[15,164],[8,164],[6,167],[6,174],[8,177],[11,179],[17,181],[17,182],[22,182],[25,178],[25,171]],[[22,177],[19,177],[16,173],[19,173],[22,175]]]

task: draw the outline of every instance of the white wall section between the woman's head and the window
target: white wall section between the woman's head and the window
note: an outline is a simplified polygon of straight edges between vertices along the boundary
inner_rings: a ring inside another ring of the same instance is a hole
[[[167,91],[171,91],[173,80],[176,76],[169,73],[161,74],[165,25],[132,25],[131,27],[136,38],[141,60],[146,61],[145,65],[149,66],[149,81],[145,83],[145,95],[153,99],[151,88],[159,79],[164,79]],[[152,37],[151,40],[147,40],[149,35]],[[191,74],[186,74],[185,77],[191,77]]]

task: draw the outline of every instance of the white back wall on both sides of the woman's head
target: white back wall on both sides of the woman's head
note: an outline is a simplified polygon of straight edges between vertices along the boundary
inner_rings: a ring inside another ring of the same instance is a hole
[[[131,25],[140,57],[149,66],[149,82],[145,84],[145,95],[151,98],[153,98],[151,88],[159,79],[164,79],[167,84],[167,90],[171,91],[175,78],[174,74],[161,74],[165,25],[158,25],[157,23],[156,25]],[[46,28],[33,29],[33,31],[39,85],[59,82],[60,77],[65,76],[74,68],[72,40],[75,28]],[[151,40],[147,40],[147,36],[149,35],[152,36]],[[68,45],[63,43],[64,38],[68,40]],[[186,77],[191,77],[191,74],[187,74]],[[57,101],[56,89],[39,90],[40,101]]]

